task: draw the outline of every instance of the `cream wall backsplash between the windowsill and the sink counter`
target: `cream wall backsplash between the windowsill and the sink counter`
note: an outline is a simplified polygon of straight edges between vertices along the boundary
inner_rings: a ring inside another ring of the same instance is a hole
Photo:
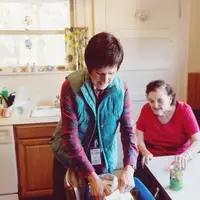
[[[34,104],[55,101],[67,75],[67,72],[63,72],[0,76],[0,89],[6,87],[10,93],[24,87]]]

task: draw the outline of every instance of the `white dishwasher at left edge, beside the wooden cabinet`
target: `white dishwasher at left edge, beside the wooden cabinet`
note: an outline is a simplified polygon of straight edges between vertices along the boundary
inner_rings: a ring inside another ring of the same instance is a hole
[[[0,200],[18,200],[13,126],[0,125]]]

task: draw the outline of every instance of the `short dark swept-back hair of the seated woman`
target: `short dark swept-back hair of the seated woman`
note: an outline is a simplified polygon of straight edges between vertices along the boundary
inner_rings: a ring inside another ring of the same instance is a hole
[[[164,80],[155,80],[146,86],[146,95],[148,95],[152,91],[156,91],[157,89],[164,87],[167,94],[172,96],[172,103],[171,105],[174,105],[176,102],[176,93],[174,92],[173,88],[171,85],[166,83]]]

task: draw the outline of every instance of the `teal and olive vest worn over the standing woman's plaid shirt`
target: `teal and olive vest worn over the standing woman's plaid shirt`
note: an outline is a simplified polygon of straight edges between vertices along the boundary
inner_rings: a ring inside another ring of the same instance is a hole
[[[83,69],[74,72],[68,76],[68,80],[76,99],[80,142],[85,149],[89,148],[91,137],[97,130],[106,169],[110,173],[115,169],[118,160],[116,130],[124,107],[124,83],[116,76],[106,88],[104,98],[96,108],[96,97],[87,71]],[[65,167],[69,167],[71,160],[61,142],[61,127],[60,121],[52,139],[52,149],[57,159]]]

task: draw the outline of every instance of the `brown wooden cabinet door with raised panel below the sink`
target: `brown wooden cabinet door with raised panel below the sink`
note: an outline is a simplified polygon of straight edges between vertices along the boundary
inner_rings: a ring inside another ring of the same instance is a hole
[[[53,153],[50,138],[18,140],[17,155],[20,196],[51,194]]]

